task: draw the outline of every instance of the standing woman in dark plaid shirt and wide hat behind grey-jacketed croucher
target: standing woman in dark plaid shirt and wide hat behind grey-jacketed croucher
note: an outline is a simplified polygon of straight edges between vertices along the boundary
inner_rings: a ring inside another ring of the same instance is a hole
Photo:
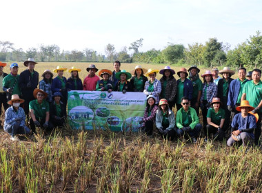
[[[159,80],[161,82],[161,99],[167,99],[168,106],[172,110],[177,94],[177,80],[174,78],[176,72],[170,66],[165,66],[165,68],[160,70],[159,74],[163,74],[163,77]]]

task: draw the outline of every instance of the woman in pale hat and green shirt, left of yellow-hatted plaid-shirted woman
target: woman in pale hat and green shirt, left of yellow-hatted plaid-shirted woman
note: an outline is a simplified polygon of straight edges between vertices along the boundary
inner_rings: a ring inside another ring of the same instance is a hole
[[[143,92],[145,88],[145,82],[148,81],[148,78],[143,74],[147,72],[145,68],[142,68],[141,65],[137,65],[134,70],[131,71],[133,77],[130,80],[132,87],[134,88],[134,92]]]

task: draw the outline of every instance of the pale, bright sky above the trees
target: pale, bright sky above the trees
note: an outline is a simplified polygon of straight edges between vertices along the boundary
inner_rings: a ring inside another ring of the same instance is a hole
[[[108,43],[119,52],[143,38],[139,51],[146,52],[214,37],[234,49],[262,32],[259,0],[12,0],[1,1],[0,8],[0,41],[24,51],[56,44],[105,54]]]

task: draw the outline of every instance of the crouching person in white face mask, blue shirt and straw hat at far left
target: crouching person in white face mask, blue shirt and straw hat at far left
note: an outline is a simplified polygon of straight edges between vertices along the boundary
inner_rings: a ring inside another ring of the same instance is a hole
[[[18,94],[13,94],[6,110],[5,123],[3,129],[11,135],[12,141],[17,141],[16,134],[30,134],[30,129],[26,126],[26,114],[23,108],[19,107],[25,100],[20,99]]]

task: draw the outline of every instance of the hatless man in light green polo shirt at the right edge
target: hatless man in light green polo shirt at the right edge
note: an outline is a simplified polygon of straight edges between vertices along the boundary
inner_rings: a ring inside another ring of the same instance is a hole
[[[245,83],[242,93],[241,101],[249,101],[250,105],[254,108],[252,112],[259,114],[259,120],[256,122],[256,129],[254,130],[254,143],[259,145],[262,119],[262,81],[260,69],[252,71],[252,81]]]

